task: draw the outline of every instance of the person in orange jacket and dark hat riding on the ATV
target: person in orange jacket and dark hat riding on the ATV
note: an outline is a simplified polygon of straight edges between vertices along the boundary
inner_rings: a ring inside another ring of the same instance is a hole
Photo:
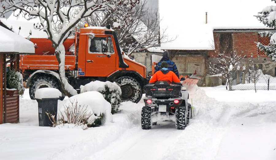
[[[180,83],[180,80],[176,76],[176,74],[170,71],[168,68],[168,63],[163,61],[161,63],[161,70],[157,71],[152,77],[149,83],[154,84],[156,81],[159,80],[168,80],[174,83]]]

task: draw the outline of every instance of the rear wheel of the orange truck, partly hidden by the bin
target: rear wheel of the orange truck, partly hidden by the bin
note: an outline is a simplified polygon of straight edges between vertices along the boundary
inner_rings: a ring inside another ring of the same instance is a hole
[[[59,82],[56,78],[48,75],[36,76],[31,81],[29,87],[29,95],[32,100],[35,99],[35,92],[39,88],[57,88],[60,90]],[[63,100],[64,97],[65,96],[62,94],[60,100]]]

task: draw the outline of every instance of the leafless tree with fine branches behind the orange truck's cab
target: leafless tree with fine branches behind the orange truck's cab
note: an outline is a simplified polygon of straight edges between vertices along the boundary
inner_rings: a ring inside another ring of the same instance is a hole
[[[82,10],[82,6],[75,12]],[[160,43],[171,42],[175,38],[166,35],[166,29],[159,33],[158,10],[149,10],[146,1],[141,1],[133,8],[133,14],[122,16],[118,12],[99,10],[83,18],[76,28],[82,28],[85,23],[90,26],[106,26],[113,24],[122,49],[130,56],[134,52],[141,52],[151,47],[160,46]],[[72,14],[73,15],[73,14]],[[58,28],[58,27],[56,27]],[[57,29],[59,32],[59,29]]]

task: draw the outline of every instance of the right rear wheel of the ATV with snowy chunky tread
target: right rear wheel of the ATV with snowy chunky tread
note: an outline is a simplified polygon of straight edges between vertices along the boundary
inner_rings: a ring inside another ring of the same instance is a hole
[[[175,127],[176,129],[185,129],[186,127],[186,107],[179,106],[175,110]]]

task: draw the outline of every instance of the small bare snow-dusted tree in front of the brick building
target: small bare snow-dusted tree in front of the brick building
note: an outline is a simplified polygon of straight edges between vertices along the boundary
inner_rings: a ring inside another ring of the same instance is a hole
[[[229,81],[231,69],[236,69],[243,58],[243,52],[238,52],[232,48],[231,40],[225,40],[220,44],[219,53],[216,56],[217,63],[210,62],[209,69],[211,74],[222,74]],[[229,67],[231,66],[231,68]],[[227,85],[227,84],[226,84]]]

